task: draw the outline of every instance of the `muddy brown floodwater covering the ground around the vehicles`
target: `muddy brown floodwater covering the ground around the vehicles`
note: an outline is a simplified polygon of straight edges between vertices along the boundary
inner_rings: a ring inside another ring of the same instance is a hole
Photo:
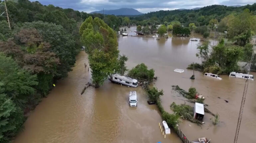
[[[199,40],[199,38],[197,38]],[[158,80],[154,85],[164,89],[162,103],[166,111],[172,113],[172,102],[185,103],[186,99],[172,90],[179,85],[188,90],[195,87],[203,94],[208,109],[218,113],[220,123],[212,125],[210,114],[205,114],[204,125],[196,125],[181,120],[180,128],[189,140],[198,137],[211,138],[212,143],[233,142],[245,80],[221,75],[223,80],[204,77],[195,71],[195,80],[190,80],[192,70],[186,67],[192,62],[200,62],[195,56],[196,45],[190,38],[119,37],[121,54],[129,57],[128,68],[145,63],[155,69]],[[88,65],[86,54],[77,55],[76,66],[47,98],[32,111],[25,122],[25,129],[14,143],[181,143],[175,133],[162,135],[158,126],[162,122],[155,105],[148,105],[146,94],[141,87],[129,88],[106,81],[98,89],[89,87],[80,95],[90,81],[90,73],[84,69]],[[175,68],[184,73],[173,72]],[[255,73],[252,73],[256,77]],[[238,142],[253,143],[256,134],[256,81],[249,81],[243,118]],[[138,106],[128,105],[128,91],[136,90]],[[218,98],[220,97],[220,98]],[[226,103],[224,100],[228,100]],[[193,105],[186,102],[186,104]]]

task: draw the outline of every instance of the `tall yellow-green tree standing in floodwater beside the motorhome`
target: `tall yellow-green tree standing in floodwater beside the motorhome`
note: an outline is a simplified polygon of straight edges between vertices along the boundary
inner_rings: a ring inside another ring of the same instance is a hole
[[[92,82],[98,88],[115,72],[118,63],[116,34],[103,20],[86,18],[80,26],[81,42],[86,46]]]

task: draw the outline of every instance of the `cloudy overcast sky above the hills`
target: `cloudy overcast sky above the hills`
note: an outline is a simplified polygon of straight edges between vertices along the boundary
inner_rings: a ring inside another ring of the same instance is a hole
[[[31,0],[36,1],[36,0]],[[192,9],[209,5],[246,5],[253,4],[255,0],[38,0],[43,5],[53,4],[62,8],[90,13],[119,8],[134,8],[142,13],[159,10]]]

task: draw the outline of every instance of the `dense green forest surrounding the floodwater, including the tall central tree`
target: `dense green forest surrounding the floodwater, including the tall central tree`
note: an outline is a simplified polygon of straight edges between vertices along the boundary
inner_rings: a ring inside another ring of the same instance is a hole
[[[225,47],[222,41],[215,53],[209,53],[207,45],[198,47],[198,56],[203,59],[199,66],[207,71],[217,69],[218,73],[229,72],[229,67],[237,70],[238,60],[250,59],[252,45],[249,42],[256,31],[256,4],[213,5],[199,10],[151,12],[137,17],[87,14],[29,0],[8,0],[6,5],[11,29],[6,17],[0,17],[0,143],[9,142],[22,130],[26,113],[47,96],[54,83],[72,70],[82,45],[87,46],[96,87],[114,71],[124,74],[127,57],[119,55],[112,28],[117,31],[120,26],[136,24],[143,26],[138,26],[142,32],[150,33],[157,29],[156,26],[150,29],[148,25],[164,24],[157,31],[160,35],[166,29],[173,29],[176,35],[189,35],[191,28],[203,34],[207,26],[218,24],[220,31],[228,30],[234,45]],[[4,12],[4,7],[0,10]],[[218,60],[219,56],[225,58]]]

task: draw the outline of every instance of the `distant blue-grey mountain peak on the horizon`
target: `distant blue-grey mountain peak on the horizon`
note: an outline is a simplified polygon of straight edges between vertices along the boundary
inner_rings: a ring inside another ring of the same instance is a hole
[[[93,14],[93,13],[103,14],[103,10],[91,12],[90,14]],[[106,15],[141,15],[141,14],[143,14],[143,13],[141,13],[135,9],[131,9],[131,8],[121,8],[121,9],[117,9],[117,10],[104,10],[104,13]]]

